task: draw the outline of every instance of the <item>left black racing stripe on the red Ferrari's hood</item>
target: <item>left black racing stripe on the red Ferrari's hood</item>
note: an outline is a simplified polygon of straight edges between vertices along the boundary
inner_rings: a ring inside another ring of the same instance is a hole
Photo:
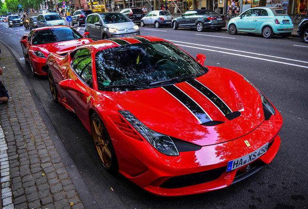
[[[167,90],[175,98],[181,101],[181,103],[183,103],[200,120],[201,123],[211,121],[210,117],[200,108],[198,104],[196,104],[194,100],[192,100],[174,85],[163,86],[162,88]]]

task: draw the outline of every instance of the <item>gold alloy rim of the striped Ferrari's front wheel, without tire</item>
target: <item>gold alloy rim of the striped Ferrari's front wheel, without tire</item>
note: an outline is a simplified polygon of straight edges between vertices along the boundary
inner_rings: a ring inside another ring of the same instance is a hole
[[[97,150],[97,153],[99,155],[99,158],[101,159],[103,165],[109,169],[111,167],[111,151],[109,149],[109,140],[108,140],[108,134],[105,133],[107,130],[102,125],[101,121],[97,118],[92,119],[91,123],[91,129],[92,129],[92,137],[94,140],[94,145]]]

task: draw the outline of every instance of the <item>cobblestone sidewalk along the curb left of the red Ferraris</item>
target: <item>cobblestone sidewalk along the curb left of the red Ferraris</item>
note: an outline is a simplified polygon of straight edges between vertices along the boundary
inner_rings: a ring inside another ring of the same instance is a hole
[[[0,103],[2,207],[83,209],[15,58],[1,42],[0,48],[0,79],[10,96]]]

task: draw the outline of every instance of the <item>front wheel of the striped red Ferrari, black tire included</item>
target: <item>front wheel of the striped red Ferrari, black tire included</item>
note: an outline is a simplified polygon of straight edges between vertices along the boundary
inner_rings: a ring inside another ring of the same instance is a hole
[[[110,173],[117,173],[119,165],[108,131],[97,113],[91,117],[91,133],[96,151],[103,166]]]

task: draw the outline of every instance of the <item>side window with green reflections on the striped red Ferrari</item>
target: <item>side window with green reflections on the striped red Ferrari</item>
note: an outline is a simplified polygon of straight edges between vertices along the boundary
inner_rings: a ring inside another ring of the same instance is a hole
[[[83,80],[89,87],[93,88],[91,61],[91,52],[88,49],[79,49],[76,52],[71,65],[81,80]]]

